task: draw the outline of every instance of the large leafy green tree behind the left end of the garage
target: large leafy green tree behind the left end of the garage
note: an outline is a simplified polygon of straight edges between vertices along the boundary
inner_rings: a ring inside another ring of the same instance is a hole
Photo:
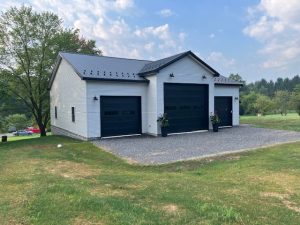
[[[41,136],[50,120],[47,86],[59,51],[101,54],[95,41],[79,37],[79,30],[64,29],[50,12],[31,7],[10,8],[0,17],[0,84],[30,109]]]

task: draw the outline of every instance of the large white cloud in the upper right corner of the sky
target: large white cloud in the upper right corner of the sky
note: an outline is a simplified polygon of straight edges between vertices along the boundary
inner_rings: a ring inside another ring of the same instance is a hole
[[[261,0],[248,9],[243,32],[262,43],[263,68],[279,68],[300,61],[300,1]]]

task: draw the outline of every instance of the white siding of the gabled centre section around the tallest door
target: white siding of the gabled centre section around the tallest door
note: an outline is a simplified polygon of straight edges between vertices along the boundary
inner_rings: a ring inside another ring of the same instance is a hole
[[[174,77],[171,78],[170,73],[173,73]],[[206,79],[202,78],[203,75],[206,76]],[[208,84],[209,112],[214,111],[213,75],[211,75],[207,69],[196,62],[192,57],[184,57],[183,59],[162,69],[157,74],[157,116],[164,112],[164,83]],[[209,115],[207,120],[209,120]],[[158,132],[160,133],[160,129],[158,129]]]

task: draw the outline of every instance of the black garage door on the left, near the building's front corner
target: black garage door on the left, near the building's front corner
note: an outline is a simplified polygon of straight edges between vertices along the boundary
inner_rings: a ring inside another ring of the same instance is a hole
[[[101,96],[101,136],[140,134],[141,97]]]

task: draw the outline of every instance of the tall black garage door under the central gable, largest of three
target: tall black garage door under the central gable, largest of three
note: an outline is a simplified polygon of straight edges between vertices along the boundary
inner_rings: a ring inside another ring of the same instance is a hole
[[[208,85],[164,84],[169,133],[208,130]]]

